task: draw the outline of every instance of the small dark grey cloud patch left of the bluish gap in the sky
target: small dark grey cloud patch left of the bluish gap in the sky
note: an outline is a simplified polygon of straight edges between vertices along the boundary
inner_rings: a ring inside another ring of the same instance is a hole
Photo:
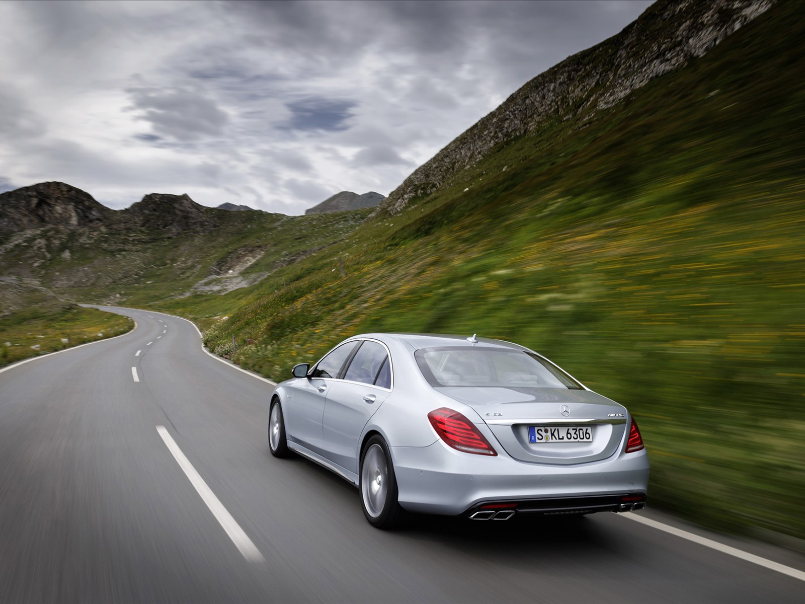
[[[136,117],[150,122],[158,134],[180,141],[200,139],[204,134],[221,135],[229,117],[215,102],[197,91],[132,88],[131,109]]]

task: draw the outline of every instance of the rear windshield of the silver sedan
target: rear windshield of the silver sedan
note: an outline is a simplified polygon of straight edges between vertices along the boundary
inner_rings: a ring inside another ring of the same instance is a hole
[[[433,387],[582,389],[559,367],[525,350],[440,346],[417,350],[414,356]]]

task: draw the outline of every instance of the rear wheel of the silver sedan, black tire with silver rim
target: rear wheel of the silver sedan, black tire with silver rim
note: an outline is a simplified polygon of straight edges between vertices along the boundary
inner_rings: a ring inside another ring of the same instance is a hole
[[[398,502],[394,464],[382,436],[375,434],[366,442],[361,452],[359,476],[361,509],[369,524],[378,528],[394,528],[402,524],[406,512]],[[378,493],[384,486],[385,496],[378,499]]]

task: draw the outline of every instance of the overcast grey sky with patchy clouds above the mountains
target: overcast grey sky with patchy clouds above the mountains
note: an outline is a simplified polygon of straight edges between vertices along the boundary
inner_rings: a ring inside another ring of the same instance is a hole
[[[649,4],[0,0],[0,191],[287,214],[388,195]]]

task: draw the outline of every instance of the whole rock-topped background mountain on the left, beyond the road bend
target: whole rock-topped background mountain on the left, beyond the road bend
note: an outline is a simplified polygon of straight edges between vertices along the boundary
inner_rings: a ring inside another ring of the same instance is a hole
[[[0,289],[109,303],[224,293],[332,245],[368,212],[229,211],[162,193],[114,210],[69,184],[35,184],[0,193]],[[14,300],[0,296],[0,314]]]

